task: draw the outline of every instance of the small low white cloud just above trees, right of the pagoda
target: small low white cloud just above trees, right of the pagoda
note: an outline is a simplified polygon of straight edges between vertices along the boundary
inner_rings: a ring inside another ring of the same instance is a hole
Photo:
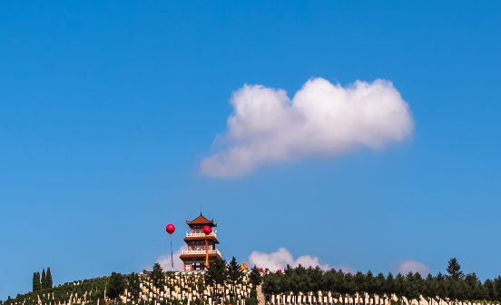
[[[285,248],[271,253],[263,253],[260,251],[252,251],[249,256],[249,263],[251,266],[258,266],[259,268],[268,268],[270,271],[284,270],[289,264],[292,267],[302,265],[304,267],[320,266],[323,270],[329,269],[329,264],[322,265],[319,263],[319,258],[316,256],[302,255],[297,260],[294,260],[290,251]]]

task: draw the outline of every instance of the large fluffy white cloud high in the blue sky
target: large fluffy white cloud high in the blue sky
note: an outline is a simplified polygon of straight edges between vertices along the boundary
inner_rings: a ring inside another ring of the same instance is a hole
[[[290,100],[282,89],[244,85],[233,93],[227,132],[201,160],[209,176],[241,176],[270,162],[335,157],[360,147],[381,150],[414,128],[408,103],[389,81],[349,86],[312,78]]]

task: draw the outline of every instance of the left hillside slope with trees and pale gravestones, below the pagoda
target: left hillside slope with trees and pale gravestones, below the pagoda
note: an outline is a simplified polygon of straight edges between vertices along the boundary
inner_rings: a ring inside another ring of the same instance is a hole
[[[260,278],[257,268],[241,271],[235,258],[230,263],[214,261],[204,272],[164,272],[155,263],[150,272],[113,272],[109,277],[75,280],[54,287],[48,268],[47,273],[42,271],[42,277],[40,272],[34,272],[32,292],[18,294],[15,299],[8,297],[0,305],[106,305],[107,301],[119,305],[184,305],[189,298],[192,305],[207,305],[209,299],[222,299],[225,305],[245,299],[246,304],[257,305],[255,287]]]

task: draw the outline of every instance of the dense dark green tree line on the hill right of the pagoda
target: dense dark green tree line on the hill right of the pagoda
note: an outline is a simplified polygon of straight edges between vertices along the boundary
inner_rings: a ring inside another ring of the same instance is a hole
[[[417,300],[419,303],[419,296],[428,302],[445,300],[449,304],[483,300],[495,303],[501,301],[501,277],[482,282],[475,272],[465,275],[456,258],[453,258],[448,261],[446,275],[438,272],[436,276],[428,274],[426,278],[412,271],[406,275],[398,273],[394,277],[391,272],[386,276],[383,273],[374,275],[371,271],[351,274],[334,269],[322,271],[318,266],[305,268],[300,265],[292,268],[288,265],[283,273],[265,272],[262,283],[262,291],[268,297],[270,294],[292,293],[293,297],[297,298],[300,292],[306,294],[320,290],[324,293],[330,291],[333,298],[341,298],[343,305],[345,297],[355,300],[357,294],[367,294],[374,304],[376,296],[380,303],[391,295],[397,296],[400,304],[402,297]],[[362,299],[365,305],[366,298]]]

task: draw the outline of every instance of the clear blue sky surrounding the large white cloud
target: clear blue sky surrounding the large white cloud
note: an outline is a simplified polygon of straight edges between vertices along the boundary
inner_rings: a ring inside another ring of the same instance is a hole
[[[499,2],[3,2],[0,299],[151,268],[200,210],[224,258],[501,273]],[[199,172],[244,84],[393,83],[414,129],[383,150]]]

